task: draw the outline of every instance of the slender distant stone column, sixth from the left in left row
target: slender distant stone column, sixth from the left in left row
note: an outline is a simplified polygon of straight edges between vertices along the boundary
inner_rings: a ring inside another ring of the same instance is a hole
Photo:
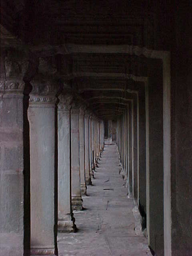
[[[92,185],[90,177],[90,131],[89,131],[89,114],[84,115],[84,138],[85,138],[85,182],[86,185]]]

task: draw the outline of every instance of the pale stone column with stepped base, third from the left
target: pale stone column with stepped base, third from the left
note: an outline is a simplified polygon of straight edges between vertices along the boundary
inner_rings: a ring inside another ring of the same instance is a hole
[[[76,231],[71,206],[70,103],[72,96],[60,95],[58,104],[58,231]]]

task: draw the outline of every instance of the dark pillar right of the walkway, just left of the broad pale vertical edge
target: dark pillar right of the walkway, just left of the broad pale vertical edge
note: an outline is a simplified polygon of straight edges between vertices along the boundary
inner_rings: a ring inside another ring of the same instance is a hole
[[[164,159],[162,63],[153,62],[146,86],[146,210],[148,244],[164,255]],[[158,93],[157,93],[158,92]],[[158,182],[157,182],[158,181]]]

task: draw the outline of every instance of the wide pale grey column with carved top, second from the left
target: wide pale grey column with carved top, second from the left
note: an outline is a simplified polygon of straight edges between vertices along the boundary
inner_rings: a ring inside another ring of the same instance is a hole
[[[33,80],[30,124],[31,255],[55,255],[55,86]]]

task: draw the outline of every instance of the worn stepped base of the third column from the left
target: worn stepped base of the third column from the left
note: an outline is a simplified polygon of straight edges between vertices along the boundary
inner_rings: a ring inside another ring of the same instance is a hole
[[[77,227],[75,224],[75,218],[73,217],[73,213],[66,214],[66,216],[62,216],[62,218],[58,218],[58,232],[76,232]]]

